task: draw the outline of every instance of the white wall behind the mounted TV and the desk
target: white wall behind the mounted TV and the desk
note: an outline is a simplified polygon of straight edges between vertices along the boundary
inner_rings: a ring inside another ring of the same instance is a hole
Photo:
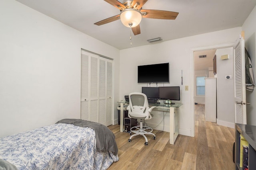
[[[241,27],[164,41],[124,49],[120,51],[120,99],[131,92],[141,92],[141,87],[146,84],[137,83],[137,66],[143,64],[170,63],[170,83],[165,86],[180,86],[181,100],[180,107],[180,134],[194,136],[194,90],[192,89],[192,78],[194,68],[191,68],[194,56],[192,49],[234,42],[241,32]],[[164,37],[162,37],[164,39]],[[181,85],[181,70],[183,70],[183,85]],[[160,74],[160,73],[159,73]],[[189,90],[185,91],[185,86]],[[161,84],[159,84],[161,86]],[[193,87],[194,88],[194,87]],[[161,117],[153,119],[158,124]],[[158,115],[162,115],[159,113]],[[152,119],[152,121],[153,121]],[[162,123],[161,123],[162,124]],[[165,119],[165,126],[169,127],[168,119]],[[168,129],[168,128],[166,128]],[[162,129],[161,129],[162,130]]]

